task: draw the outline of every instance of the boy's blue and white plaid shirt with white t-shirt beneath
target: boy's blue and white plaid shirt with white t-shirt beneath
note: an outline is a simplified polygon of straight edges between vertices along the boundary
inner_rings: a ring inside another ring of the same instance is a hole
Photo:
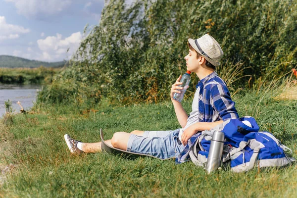
[[[215,71],[200,80],[196,88],[192,112],[183,130],[197,122],[215,122],[239,118],[235,109],[235,102],[232,101],[225,82]],[[197,141],[198,134],[190,138],[186,148],[176,158],[177,163],[187,160],[189,150]],[[181,137],[181,132],[179,137]]]

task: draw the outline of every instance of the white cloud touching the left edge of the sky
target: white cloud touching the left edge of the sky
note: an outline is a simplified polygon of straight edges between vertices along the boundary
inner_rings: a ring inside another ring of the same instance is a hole
[[[5,16],[0,16],[0,40],[18,39],[20,37],[19,34],[29,32],[28,28],[6,23]]]

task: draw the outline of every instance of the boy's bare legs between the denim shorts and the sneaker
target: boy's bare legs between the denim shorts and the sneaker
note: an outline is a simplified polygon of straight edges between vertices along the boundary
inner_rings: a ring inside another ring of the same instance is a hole
[[[128,144],[128,140],[130,138],[130,134],[142,136],[144,134],[144,131],[134,130],[131,133],[117,132],[117,133],[113,134],[113,137],[111,140],[106,140],[104,142],[111,147],[120,148],[122,150],[127,150],[127,144]],[[101,142],[83,143],[82,150],[84,152],[100,152],[100,151],[102,151]]]

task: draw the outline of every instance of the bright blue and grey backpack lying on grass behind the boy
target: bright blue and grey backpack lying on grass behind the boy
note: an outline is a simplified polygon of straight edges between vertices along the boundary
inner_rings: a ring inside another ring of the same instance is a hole
[[[280,167],[296,161],[288,157],[285,147],[271,133],[259,131],[255,119],[245,116],[240,119],[227,120],[211,130],[202,131],[190,149],[191,160],[197,166],[205,166],[214,131],[225,134],[222,162],[231,161],[231,171],[244,172],[255,165],[262,167]]]

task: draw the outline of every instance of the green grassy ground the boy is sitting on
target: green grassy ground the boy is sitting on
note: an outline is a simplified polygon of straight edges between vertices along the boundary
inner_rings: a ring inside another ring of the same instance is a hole
[[[256,118],[297,158],[297,102],[273,99],[273,92],[246,92],[233,99],[240,116]],[[191,99],[183,102],[188,113]],[[0,126],[0,197],[296,197],[297,166],[254,168],[247,173],[223,169],[207,175],[192,162],[125,159],[109,153],[71,155],[63,135],[98,142],[117,131],[179,128],[170,101],[108,105],[87,110],[53,105],[13,117]]]

